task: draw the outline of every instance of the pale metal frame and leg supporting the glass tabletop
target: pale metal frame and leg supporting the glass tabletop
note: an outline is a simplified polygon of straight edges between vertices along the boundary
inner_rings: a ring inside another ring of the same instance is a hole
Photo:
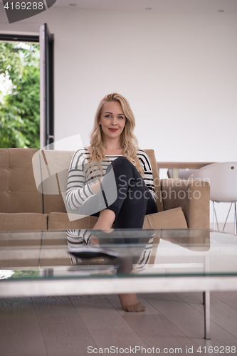
[[[205,290],[205,292],[204,292]],[[56,278],[1,281],[0,297],[204,292],[204,337],[211,339],[210,292],[237,290],[237,276]]]

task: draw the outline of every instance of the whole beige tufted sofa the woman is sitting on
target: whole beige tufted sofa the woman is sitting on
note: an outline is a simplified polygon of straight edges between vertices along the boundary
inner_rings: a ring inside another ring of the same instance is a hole
[[[154,151],[146,152],[152,163],[159,212],[147,215],[143,227],[209,229],[209,184],[160,180]],[[63,199],[72,157],[69,151],[0,150],[1,231],[93,228],[98,218],[78,219],[65,209]]]

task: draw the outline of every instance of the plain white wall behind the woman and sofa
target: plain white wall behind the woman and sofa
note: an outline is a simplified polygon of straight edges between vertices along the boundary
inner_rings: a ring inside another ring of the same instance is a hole
[[[1,32],[55,35],[56,140],[88,145],[103,95],[130,101],[157,161],[237,161],[237,14],[51,9]]]

